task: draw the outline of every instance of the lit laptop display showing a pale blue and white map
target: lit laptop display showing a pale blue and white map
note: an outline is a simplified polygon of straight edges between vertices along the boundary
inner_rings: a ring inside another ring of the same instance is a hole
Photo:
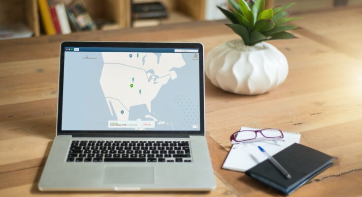
[[[198,49],[64,51],[63,131],[200,131]]]

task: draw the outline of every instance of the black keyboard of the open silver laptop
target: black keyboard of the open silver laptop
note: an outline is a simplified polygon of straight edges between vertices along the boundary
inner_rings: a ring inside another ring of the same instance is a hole
[[[189,141],[72,140],[66,162],[192,162]]]

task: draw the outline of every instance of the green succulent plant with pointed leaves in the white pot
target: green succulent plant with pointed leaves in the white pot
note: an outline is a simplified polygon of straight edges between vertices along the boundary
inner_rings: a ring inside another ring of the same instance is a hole
[[[294,5],[289,3],[265,9],[265,0],[229,0],[233,9],[226,10],[218,6],[232,24],[226,24],[232,31],[242,38],[245,45],[253,46],[265,40],[296,38],[288,30],[299,27],[286,25],[286,23],[301,19],[301,17],[288,18],[286,8]]]

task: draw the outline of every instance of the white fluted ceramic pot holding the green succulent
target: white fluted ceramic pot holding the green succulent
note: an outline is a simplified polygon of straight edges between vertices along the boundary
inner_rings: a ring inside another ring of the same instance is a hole
[[[206,57],[205,73],[217,87],[241,95],[258,95],[279,86],[288,75],[288,62],[273,45],[246,46],[241,39],[213,48]]]

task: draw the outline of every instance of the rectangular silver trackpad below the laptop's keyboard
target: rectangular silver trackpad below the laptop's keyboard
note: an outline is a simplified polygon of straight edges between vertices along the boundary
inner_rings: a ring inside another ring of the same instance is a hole
[[[153,183],[153,175],[153,167],[106,166],[103,182],[106,184]]]

